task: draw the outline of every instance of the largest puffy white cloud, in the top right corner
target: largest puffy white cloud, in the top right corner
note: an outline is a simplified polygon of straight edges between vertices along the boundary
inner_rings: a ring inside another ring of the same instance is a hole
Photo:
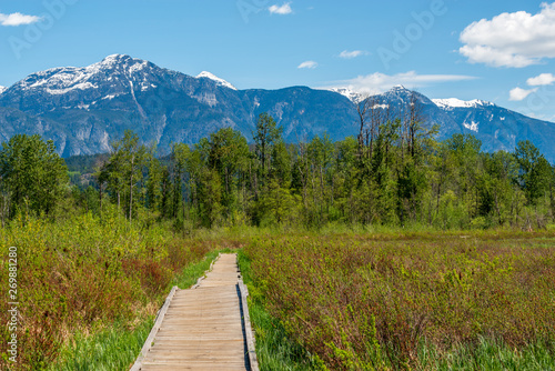
[[[461,33],[458,52],[471,63],[522,68],[555,58],[555,2],[537,14],[525,11],[482,19]]]

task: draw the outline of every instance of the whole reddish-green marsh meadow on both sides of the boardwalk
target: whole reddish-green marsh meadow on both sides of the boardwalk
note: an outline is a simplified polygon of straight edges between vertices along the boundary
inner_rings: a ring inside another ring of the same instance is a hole
[[[1,245],[19,247],[19,369],[127,369],[169,289],[191,287],[219,252],[243,248],[262,370],[555,370],[554,230],[180,235],[121,220],[108,209],[102,219],[28,218],[0,230]]]

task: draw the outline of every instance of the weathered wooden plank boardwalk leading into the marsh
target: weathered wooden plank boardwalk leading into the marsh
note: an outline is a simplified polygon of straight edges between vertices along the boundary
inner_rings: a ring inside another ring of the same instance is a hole
[[[172,290],[131,370],[258,370],[242,288],[236,254],[222,254],[193,289]]]

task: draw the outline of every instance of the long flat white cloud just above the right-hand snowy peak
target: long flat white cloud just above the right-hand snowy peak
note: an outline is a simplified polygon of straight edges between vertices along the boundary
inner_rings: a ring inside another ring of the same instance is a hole
[[[372,74],[359,76],[350,80],[336,81],[334,86],[326,88],[347,88],[362,94],[379,94],[400,84],[408,89],[416,89],[435,83],[472,79],[475,78],[464,74],[417,74],[415,71],[397,74],[375,72]]]

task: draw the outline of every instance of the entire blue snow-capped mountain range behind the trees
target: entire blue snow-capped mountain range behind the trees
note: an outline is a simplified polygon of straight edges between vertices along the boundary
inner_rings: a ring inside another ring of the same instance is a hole
[[[402,104],[411,92],[395,87],[377,98]],[[430,100],[415,93],[426,124],[440,124],[440,138],[473,133],[486,151],[514,149],[531,140],[555,160],[555,123],[541,121],[480,100]],[[63,157],[107,152],[125,129],[168,152],[172,142],[195,143],[232,127],[248,139],[256,118],[270,113],[289,142],[327,132],[334,140],[356,136],[356,104],[364,97],[291,87],[238,90],[210,72],[191,77],[149,61],[114,54],[84,68],[33,73],[8,89],[0,87],[0,141],[18,133],[52,139]]]

